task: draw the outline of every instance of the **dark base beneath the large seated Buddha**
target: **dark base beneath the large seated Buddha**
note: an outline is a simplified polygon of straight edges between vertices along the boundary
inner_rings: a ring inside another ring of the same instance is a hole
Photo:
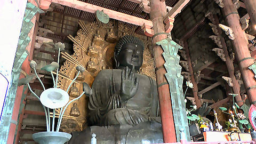
[[[145,122],[136,126],[113,125],[87,127],[82,132],[73,132],[73,136],[68,144],[91,143],[93,133],[97,135],[97,144],[163,143],[161,123]]]

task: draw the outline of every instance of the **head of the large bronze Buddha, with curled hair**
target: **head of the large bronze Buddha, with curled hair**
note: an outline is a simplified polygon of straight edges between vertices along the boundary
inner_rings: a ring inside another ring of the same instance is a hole
[[[116,68],[134,66],[135,70],[139,70],[143,62],[144,44],[139,38],[134,36],[123,36],[119,39],[115,46],[115,62]]]

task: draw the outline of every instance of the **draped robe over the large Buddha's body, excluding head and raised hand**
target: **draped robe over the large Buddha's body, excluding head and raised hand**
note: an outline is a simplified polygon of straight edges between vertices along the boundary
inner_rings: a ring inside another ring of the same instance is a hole
[[[156,82],[146,75],[135,73],[139,78],[137,93],[127,101],[121,100],[120,69],[101,70],[92,84],[89,101],[89,121],[92,125],[137,125],[158,119]]]

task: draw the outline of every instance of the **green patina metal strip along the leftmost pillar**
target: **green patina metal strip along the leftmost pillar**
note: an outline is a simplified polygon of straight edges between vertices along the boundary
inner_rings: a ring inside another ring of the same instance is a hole
[[[44,11],[42,11],[32,3],[28,2],[26,5],[25,15],[23,17],[18,47],[17,47],[17,51],[15,54],[15,59],[13,63],[12,84],[9,90],[9,94],[6,97],[5,106],[3,109],[2,119],[4,119],[4,122],[3,123],[1,122],[0,124],[0,130],[2,130],[0,133],[0,143],[6,143],[7,136],[9,134],[10,124],[12,123],[12,119],[11,119],[12,110],[14,107],[14,101],[15,101],[15,96],[16,96],[16,91],[17,91],[17,86],[18,86],[18,81],[19,81],[20,71],[21,71],[21,65],[29,55],[29,52],[26,50],[26,47],[28,46],[31,40],[28,36],[28,33],[31,30],[31,28],[34,26],[34,23],[31,22],[31,19],[34,17],[34,15],[37,12],[43,13]],[[25,97],[23,97],[22,95],[22,98],[24,99]],[[24,106],[21,102],[20,109],[22,109],[23,107]]]

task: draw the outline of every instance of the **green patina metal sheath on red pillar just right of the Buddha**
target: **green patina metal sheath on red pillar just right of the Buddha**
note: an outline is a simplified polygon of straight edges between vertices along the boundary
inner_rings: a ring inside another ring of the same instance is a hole
[[[164,50],[163,57],[166,61],[164,63],[164,67],[167,70],[165,76],[169,82],[170,87],[172,111],[177,140],[180,140],[179,130],[182,128],[185,129],[184,132],[186,134],[187,140],[190,140],[188,119],[185,109],[186,106],[182,90],[183,76],[180,74],[182,67],[179,65],[180,56],[178,55],[178,50],[182,49],[182,47],[172,41],[170,38],[163,39],[156,44],[161,45]]]

